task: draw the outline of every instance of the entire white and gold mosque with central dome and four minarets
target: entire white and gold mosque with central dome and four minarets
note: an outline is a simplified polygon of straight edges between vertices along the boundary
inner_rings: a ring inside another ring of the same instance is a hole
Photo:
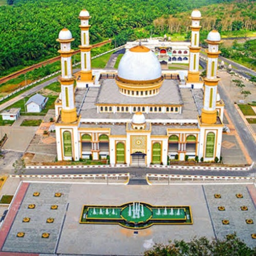
[[[217,69],[221,37],[215,30],[207,36],[207,75],[202,79],[201,18],[199,10],[191,13],[186,74],[163,73],[156,54],[139,43],[125,52],[117,71],[92,70],[90,14],[82,10],[81,70],[75,78],[74,38],[62,29],[57,39],[61,93],[55,102],[58,160],[106,158],[113,165],[146,166],[196,156],[204,161],[220,159],[224,103],[218,94]]]

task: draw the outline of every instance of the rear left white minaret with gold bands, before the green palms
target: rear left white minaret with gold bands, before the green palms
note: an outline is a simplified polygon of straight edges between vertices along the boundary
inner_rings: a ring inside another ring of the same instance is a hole
[[[79,19],[81,24],[81,45],[79,46],[81,50],[81,78],[80,82],[92,82],[92,67],[91,67],[91,49],[90,40],[89,40],[89,19],[90,14],[87,10],[83,9],[79,13]]]

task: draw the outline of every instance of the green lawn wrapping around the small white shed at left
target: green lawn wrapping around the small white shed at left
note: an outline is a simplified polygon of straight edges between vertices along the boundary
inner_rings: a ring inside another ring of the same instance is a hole
[[[13,103],[11,106],[8,107],[8,109],[11,108],[21,108],[20,110],[20,115],[26,115],[26,116],[45,116],[46,113],[48,112],[48,110],[50,109],[54,109],[54,102],[57,99],[58,96],[54,96],[54,95],[48,95],[48,101],[46,103],[45,109],[42,110],[40,113],[30,113],[30,112],[25,112],[25,103],[27,102],[27,100],[33,95],[30,95],[28,97],[25,97],[25,99],[21,99],[15,103]]]

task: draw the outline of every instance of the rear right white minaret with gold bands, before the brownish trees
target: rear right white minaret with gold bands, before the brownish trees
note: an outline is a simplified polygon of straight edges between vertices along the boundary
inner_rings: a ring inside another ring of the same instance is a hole
[[[201,12],[194,10],[191,13],[190,19],[192,20],[191,28],[191,46],[189,47],[189,70],[187,74],[188,82],[199,82],[199,31],[200,19],[202,19]]]

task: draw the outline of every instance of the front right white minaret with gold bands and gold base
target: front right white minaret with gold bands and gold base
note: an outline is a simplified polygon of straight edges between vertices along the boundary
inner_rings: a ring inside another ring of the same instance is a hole
[[[214,124],[217,120],[216,100],[217,100],[217,69],[218,69],[218,56],[219,44],[221,36],[218,31],[212,30],[206,42],[208,43],[207,53],[207,70],[206,77],[204,78],[204,106],[202,109],[202,123]]]

